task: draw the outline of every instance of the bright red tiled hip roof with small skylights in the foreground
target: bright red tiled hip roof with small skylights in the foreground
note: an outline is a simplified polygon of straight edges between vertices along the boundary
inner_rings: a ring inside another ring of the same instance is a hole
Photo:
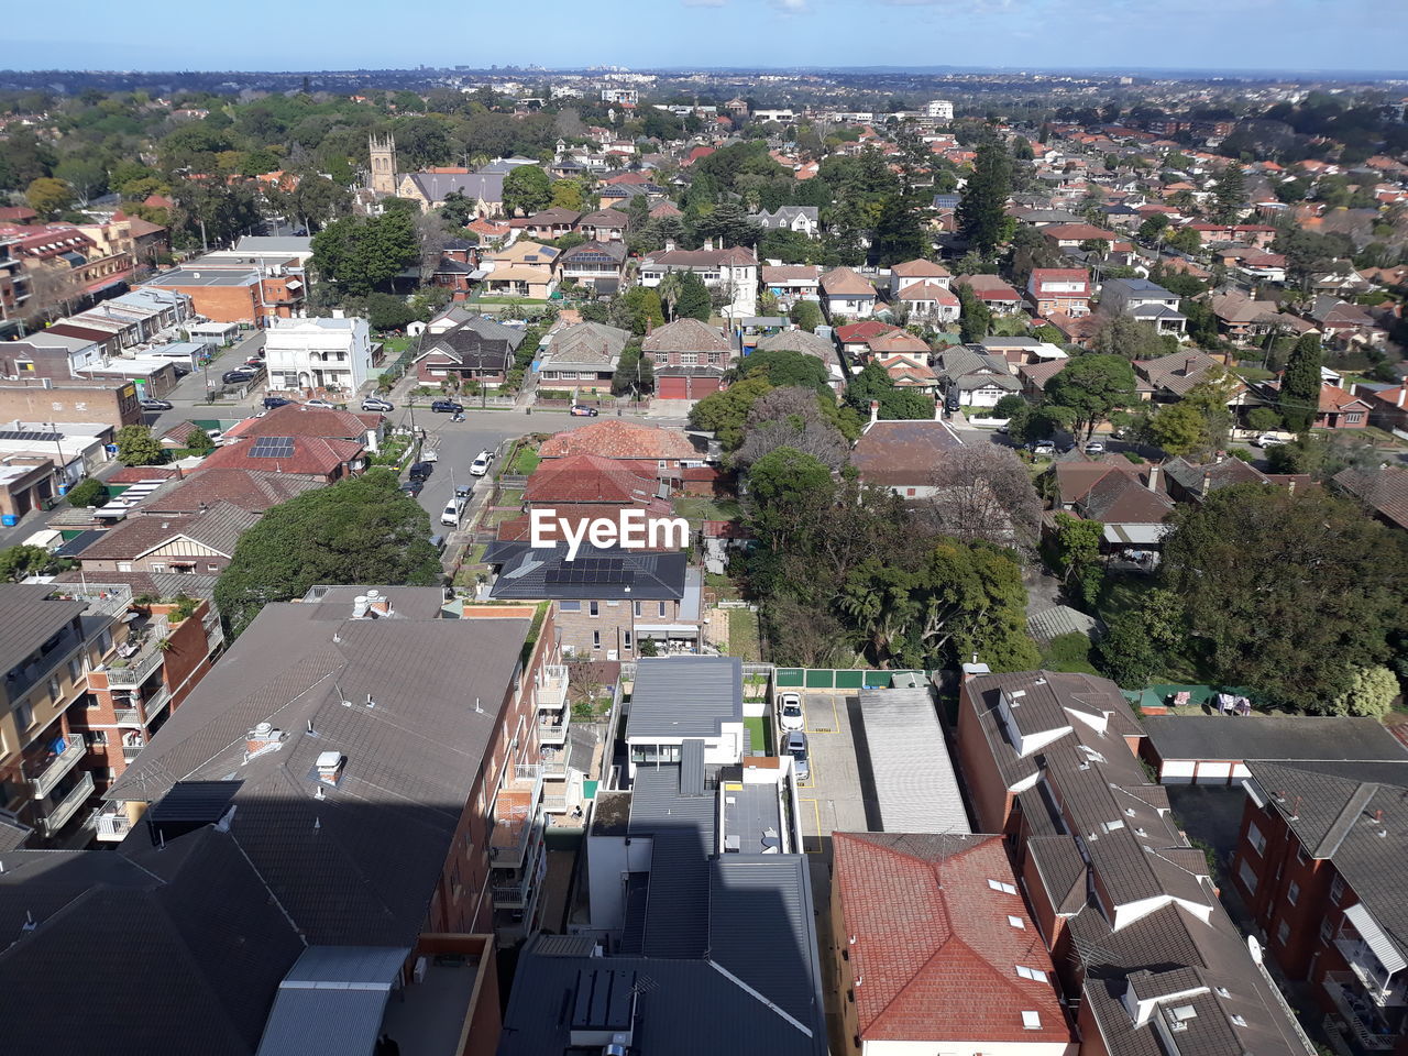
[[[832,853],[843,926],[855,936],[862,1039],[1070,1041],[1050,956],[1001,836],[836,832]],[[1018,976],[1018,966],[1048,981]],[[1035,1029],[1024,1024],[1031,1012]]]

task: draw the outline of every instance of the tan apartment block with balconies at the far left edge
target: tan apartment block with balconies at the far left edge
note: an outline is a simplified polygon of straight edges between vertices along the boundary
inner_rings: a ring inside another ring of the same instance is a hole
[[[82,841],[94,796],[80,766],[89,673],[125,648],[131,591],[62,597],[52,586],[0,586],[0,846]]]

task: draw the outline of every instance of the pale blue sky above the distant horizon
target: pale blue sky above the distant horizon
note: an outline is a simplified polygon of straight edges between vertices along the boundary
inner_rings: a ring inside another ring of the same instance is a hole
[[[1408,69],[1381,0],[111,0],[6,4],[11,69]]]

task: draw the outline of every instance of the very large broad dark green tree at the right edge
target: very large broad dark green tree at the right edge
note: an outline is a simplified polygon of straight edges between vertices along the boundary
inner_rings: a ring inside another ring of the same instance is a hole
[[[1180,505],[1162,574],[1215,680],[1324,712],[1404,624],[1408,552],[1318,490],[1242,484]]]

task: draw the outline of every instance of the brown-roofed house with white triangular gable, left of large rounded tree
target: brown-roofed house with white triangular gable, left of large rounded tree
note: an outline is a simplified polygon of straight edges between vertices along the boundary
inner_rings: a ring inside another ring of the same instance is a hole
[[[196,514],[131,517],[106,531],[79,555],[87,576],[110,572],[218,574],[230,565],[239,536],[259,514],[217,503]]]

